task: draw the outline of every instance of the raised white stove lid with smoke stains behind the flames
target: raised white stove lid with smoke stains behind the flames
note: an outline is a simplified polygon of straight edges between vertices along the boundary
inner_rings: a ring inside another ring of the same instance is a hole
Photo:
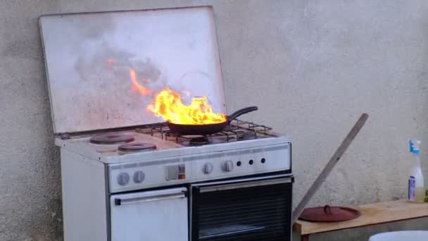
[[[163,121],[146,111],[152,97],[132,91],[130,68],[155,92],[170,86],[184,103],[206,95],[225,112],[209,6],[42,16],[39,24],[56,133]]]

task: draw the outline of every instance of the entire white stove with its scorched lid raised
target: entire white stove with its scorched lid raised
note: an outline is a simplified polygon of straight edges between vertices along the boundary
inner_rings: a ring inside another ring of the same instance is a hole
[[[132,67],[225,113],[211,7],[42,16],[40,27],[65,241],[290,239],[289,137],[239,120],[178,135],[130,92]]]

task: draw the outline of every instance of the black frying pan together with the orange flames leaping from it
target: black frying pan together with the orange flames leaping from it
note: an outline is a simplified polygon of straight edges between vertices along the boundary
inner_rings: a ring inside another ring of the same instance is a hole
[[[108,58],[108,68],[113,68],[115,61]],[[130,68],[131,92],[138,92],[143,97],[152,98],[151,103],[146,106],[146,111],[155,116],[163,118],[172,132],[181,135],[210,135],[224,130],[233,119],[251,111],[256,111],[257,106],[251,106],[235,111],[230,116],[224,113],[215,113],[208,104],[206,95],[202,97],[191,97],[190,104],[182,103],[180,92],[170,87],[160,87],[153,90],[147,87],[149,82],[144,76],[137,76],[136,71]],[[198,80],[196,80],[198,82]],[[187,91],[188,95],[191,95]],[[254,139],[255,135],[244,134],[241,139]],[[207,138],[191,140],[193,145],[209,143]]]

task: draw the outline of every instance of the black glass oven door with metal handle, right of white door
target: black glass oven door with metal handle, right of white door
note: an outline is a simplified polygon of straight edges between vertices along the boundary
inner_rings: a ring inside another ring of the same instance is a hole
[[[191,186],[191,240],[291,240],[293,178],[251,178]]]

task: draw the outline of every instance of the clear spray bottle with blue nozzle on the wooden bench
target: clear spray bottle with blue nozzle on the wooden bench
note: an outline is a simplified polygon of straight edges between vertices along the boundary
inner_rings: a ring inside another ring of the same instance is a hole
[[[425,189],[424,177],[420,167],[420,141],[409,140],[410,153],[413,154],[412,166],[410,167],[410,175],[408,182],[408,202],[424,202]]]

